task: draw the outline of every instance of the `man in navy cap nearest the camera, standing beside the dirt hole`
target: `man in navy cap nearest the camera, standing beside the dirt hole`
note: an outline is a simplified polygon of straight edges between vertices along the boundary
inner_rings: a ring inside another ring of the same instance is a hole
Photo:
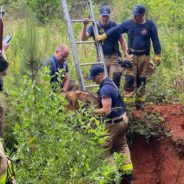
[[[114,152],[122,154],[122,167],[120,172],[123,173],[123,183],[131,184],[133,165],[130,150],[126,143],[128,118],[125,105],[117,86],[112,80],[105,76],[102,66],[92,66],[90,79],[100,85],[98,95],[101,105],[99,108],[94,109],[94,113],[103,116],[106,122],[108,138],[103,145],[104,148],[108,149],[106,158],[111,157],[110,160],[112,160],[112,154]]]

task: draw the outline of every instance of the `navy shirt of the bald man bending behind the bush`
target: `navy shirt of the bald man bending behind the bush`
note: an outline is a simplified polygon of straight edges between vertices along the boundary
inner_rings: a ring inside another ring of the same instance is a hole
[[[61,70],[61,81],[63,81],[66,73],[68,73],[68,65],[66,61],[63,64],[59,64],[55,56],[51,56],[48,60],[48,64],[50,68],[50,76],[51,80],[50,82],[57,82],[59,83],[58,79],[58,72]],[[63,83],[60,84],[61,87],[63,87]]]

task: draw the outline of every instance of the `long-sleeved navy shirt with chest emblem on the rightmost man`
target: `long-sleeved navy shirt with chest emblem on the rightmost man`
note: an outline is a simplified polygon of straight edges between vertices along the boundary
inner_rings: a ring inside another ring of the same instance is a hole
[[[138,24],[134,20],[125,20],[106,32],[107,37],[112,37],[115,33],[128,34],[128,48],[134,50],[150,50],[151,40],[156,55],[161,53],[161,45],[158,37],[157,27],[146,19],[143,24]]]

